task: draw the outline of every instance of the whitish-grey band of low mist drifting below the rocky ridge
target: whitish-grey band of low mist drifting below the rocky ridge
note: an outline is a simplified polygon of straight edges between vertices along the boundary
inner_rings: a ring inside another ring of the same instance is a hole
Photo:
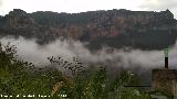
[[[101,51],[92,53],[84,46],[83,43],[73,41],[58,40],[56,42],[44,46],[38,45],[35,40],[28,41],[23,37],[20,37],[19,40],[3,37],[0,42],[4,45],[8,42],[11,42],[12,45],[17,45],[19,56],[25,61],[33,62],[38,66],[49,64],[49,61],[46,59],[49,56],[61,56],[65,59],[71,59],[76,56],[82,62],[106,63],[107,65],[112,65],[114,67],[164,67],[163,51],[131,50],[125,52],[124,50],[114,50],[112,53],[108,53],[108,47],[104,47]],[[171,67],[177,65],[177,45],[171,48],[169,59]]]

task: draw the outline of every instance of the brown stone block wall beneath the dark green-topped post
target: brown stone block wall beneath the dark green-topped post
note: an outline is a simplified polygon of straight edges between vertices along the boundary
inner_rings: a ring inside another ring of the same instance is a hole
[[[175,69],[153,69],[153,90],[165,90],[177,99],[177,70]]]

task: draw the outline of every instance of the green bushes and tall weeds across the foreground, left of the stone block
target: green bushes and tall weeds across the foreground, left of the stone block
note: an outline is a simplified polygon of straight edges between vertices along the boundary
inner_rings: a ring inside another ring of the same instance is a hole
[[[139,85],[139,77],[131,72],[121,72],[114,81],[107,79],[106,68],[84,69],[75,57],[67,62],[61,57],[48,57],[51,66],[34,67],[19,59],[15,46],[0,44],[0,97],[13,99],[34,97],[41,99],[150,99],[142,88],[125,88]],[[52,65],[71,72],[71,76]]]

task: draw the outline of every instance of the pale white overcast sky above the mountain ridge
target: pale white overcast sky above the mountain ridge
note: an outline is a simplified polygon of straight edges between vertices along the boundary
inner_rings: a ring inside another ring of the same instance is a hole
[[[160,11],[169,9],[177,18],[177,0],[0,0],[0,14],[13,9],[30,12],[85,12],[94,10],[128,9]]]

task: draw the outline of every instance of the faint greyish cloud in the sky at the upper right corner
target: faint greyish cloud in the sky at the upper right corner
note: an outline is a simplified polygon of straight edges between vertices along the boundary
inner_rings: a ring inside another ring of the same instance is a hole
[[[144,0],[140,8],[148,10],[165,10],[177,7],[176,0]]]

